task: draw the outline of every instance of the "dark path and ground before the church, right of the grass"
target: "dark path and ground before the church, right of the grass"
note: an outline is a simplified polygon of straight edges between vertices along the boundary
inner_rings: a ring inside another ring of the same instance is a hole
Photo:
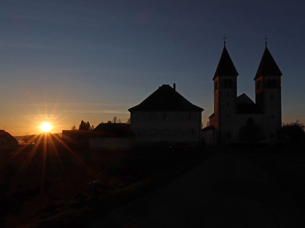
[[[304,156],[217,148],[169,185],[90,227],[305,227]]]

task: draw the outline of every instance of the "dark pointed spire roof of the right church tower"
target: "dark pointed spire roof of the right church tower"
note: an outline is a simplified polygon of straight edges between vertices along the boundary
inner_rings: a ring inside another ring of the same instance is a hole
[[[254,80],[260,78],[261,76],[282,76],[282,72],[278,68],[278,65],[274,61],[267,46],[265,48],[263,57],[260,60],[260,65],[257,69]]]

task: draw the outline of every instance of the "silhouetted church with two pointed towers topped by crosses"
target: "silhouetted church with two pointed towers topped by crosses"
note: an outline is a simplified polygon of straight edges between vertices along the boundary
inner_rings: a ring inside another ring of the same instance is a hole
[[[255,102],[244,93],[237,96],[238,75],[224,42],[213,77],[214,113],[209,117],[209,126],[202,129],[203,142],[206,145],[243,141],[276,143],[276,133],[282,126],[282,72],[267,42],[254,77]]]

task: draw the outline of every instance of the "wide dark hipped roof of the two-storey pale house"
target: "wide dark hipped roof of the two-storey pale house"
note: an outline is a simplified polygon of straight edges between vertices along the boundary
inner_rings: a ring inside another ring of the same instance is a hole
[[[203,109],[193,105],[170,85],[162,85],[148,98],[130,109],[132,111],[200,111]]]

